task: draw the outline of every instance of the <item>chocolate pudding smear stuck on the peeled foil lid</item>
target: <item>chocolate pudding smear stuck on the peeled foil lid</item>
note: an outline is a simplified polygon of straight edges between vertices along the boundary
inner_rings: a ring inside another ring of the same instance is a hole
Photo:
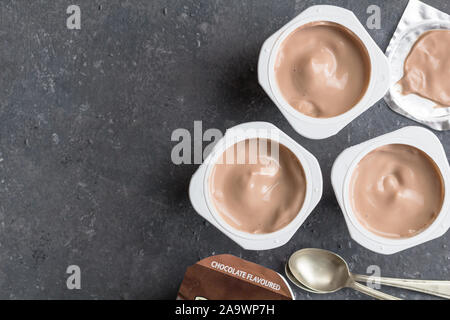
[[[402,93],[417,94],[450,107],[450,30],[430,30],[417,39],[399,81]]]

